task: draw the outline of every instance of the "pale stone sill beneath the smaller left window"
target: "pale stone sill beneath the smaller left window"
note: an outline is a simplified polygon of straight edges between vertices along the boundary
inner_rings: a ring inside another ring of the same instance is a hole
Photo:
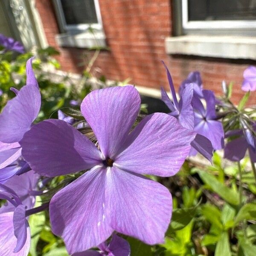
[[[76,35],[64,33],[56,35],[57,43],[61,47],[106,47],[105,34],[103,32],[83,32]]]

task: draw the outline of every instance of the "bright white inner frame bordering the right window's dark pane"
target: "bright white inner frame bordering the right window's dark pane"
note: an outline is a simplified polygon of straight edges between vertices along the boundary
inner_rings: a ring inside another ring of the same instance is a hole
[[[183,29],[255,29],[256,20],[189,21],[188,2],[182,0]]]

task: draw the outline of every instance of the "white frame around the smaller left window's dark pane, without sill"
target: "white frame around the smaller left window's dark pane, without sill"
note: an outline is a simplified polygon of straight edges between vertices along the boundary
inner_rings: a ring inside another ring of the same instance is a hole
[[[64,12],[62,9],[61,0],[55,0],[55,1],[56,1],[57,9],[58,9],[58,14],[60,17],[61,26],[63,27],[63,29],[65,31],[72,31],[72,30],[86,31],[89,28],[93,28],[96,30],[102,30],[102,18],[101,18],[101,14],[100,14],[98,0],[94,0],[94,6],[95,6],[95,10],[96,10],[96,16],[97,16],[98,23],[80,23],[80,24],[74,24],[74,25],[67,25],[65,16],[64,16]]]

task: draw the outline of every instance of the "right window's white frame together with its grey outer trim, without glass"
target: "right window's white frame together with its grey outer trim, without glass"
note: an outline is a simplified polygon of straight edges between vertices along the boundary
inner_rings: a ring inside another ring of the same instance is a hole
[[[225,33],[230,30],[230,34],[242,34],[241,32],[245,29],[246,31],[252,31],[256,29],[256,20],[205,20],[205,21],[189,21],[188,19],[188,2],[187,0],[181,0],[178,6],[175,4],[175,9],[181,9],[181,25],[184,34],[205,33],[207,30],[212,34],[218,34],[218,32]],[[180,29],[179,29],[180,30]],[[248,32],[247,32],[248,33]],[[255,33],[255,32],[254,32]],[[254,34],[253,33],[253,34]],[[246,32],[245,32],[246,34]]]

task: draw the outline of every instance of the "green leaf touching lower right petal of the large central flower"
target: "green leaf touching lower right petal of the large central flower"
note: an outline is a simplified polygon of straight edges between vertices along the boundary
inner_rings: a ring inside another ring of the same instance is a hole
[[[180,230],[186,227],[195,215],[196,207],[174,209],[172,212],[172,220],[167,230],[167,235],[172,233],[172,230]]]

